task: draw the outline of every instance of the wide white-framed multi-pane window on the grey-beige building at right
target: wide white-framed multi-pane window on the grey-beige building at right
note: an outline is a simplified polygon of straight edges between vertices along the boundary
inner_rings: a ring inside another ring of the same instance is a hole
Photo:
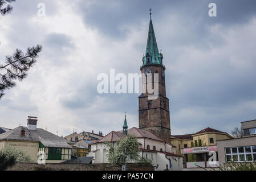
[[[251,162],[256,160],[256,146],[225,148],[226,162]]]

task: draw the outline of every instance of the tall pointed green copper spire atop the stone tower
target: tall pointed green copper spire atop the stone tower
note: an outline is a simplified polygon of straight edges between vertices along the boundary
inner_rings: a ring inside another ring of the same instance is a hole
[[[150,10],[151,12],[151,10]],[[143,57],[143,66],[146,64],[161,64],[162,65],[162,54],[159,53],[157,48],[155,31],[150,13],[150,22],[148,30],[148,41],[145,56]]]

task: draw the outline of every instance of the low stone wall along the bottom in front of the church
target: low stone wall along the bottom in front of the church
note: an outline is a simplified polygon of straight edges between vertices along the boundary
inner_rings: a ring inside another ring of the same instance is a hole
[[[153,171],[154,167],[141,167],[138,165],[127,164],[129,171]],[[37,163],[17,163],[7,171],[121,171],[120,166],[111,164],[45,164]]]

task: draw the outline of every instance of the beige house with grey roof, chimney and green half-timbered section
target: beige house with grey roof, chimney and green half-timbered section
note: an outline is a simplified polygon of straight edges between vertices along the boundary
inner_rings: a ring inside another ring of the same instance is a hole
[[[29,117],[27,127],[19,126],[0,135],[0,150],[12,147],[25,152],[37,163],[40,154],[46,163],[71,159],[72,147],[67,140],[36,127],[37,118]]]

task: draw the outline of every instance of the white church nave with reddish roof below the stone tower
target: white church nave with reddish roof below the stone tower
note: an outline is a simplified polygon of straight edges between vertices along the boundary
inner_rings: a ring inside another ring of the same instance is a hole
[[[127,130],[126,130],[127,131]],[[138,129],[133,127],[128,130],[128,135],[137,137],[140,143],[141,155],[146,159],[152,160],[152,165],[156,167],[157,171],[162,171],[166,167],[170,171],[182,170],[183,157],[175,154],[176,150],[173,150],[175,146],[160,139],[150,131]],[[87,156],[93,156],[92,163],[108,163],[105,156],[105,142],[112,142],[115,145],[116,141],[120,138],[124,138],[124,131],[111,131],[111,133],[105,135],[105,137],[97,140],[91,145],[91,152]],[[166,166],[167,165],[167,166]]]

